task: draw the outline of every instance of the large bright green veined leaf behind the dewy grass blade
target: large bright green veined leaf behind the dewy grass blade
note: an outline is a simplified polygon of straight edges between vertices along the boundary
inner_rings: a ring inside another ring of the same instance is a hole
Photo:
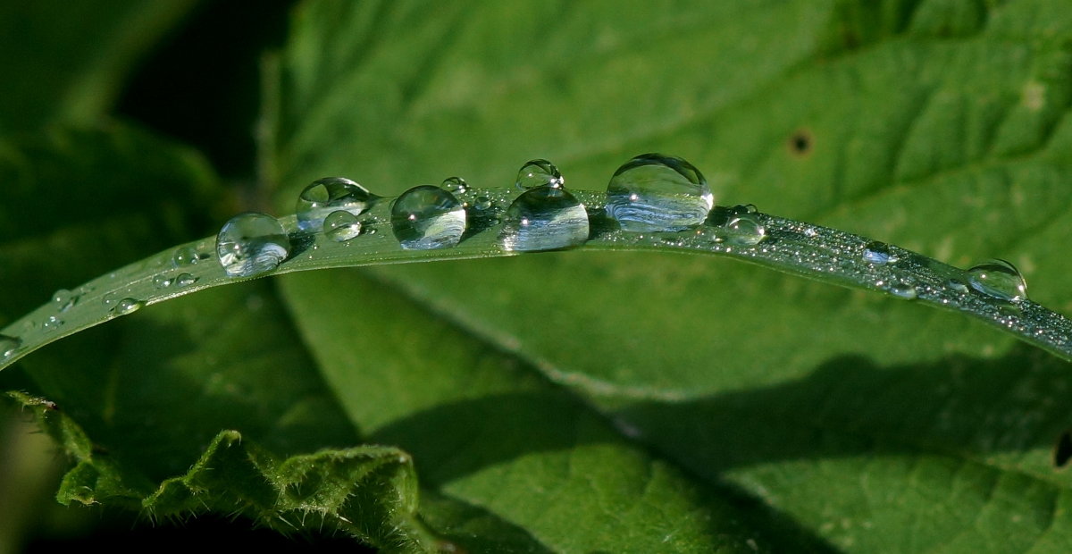
[[[1072,308],[1067,6],[643,8],[306,5],[273,113],[280,209],[324,175],[382,194],[503,185],[535,156],[598,189],[659,150],[720,203],[954,264],[1008,257],[1034,298]],[[671,527],[701,550],[750,533],[883,552],[1072,543],[1052,459],[1068,368],[953,314],[673,256],[282,282],[355,424],[551,549],[652,549]]]

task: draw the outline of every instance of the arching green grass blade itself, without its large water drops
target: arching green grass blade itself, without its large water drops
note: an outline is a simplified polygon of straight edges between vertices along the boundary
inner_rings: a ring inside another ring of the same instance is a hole
[[[968,286],[965,270],[915,252],[746,207],[715,207],[704,224],[685,230],[630,233],[605,215],[605,193],[572,194],[585,206],[591,222],[581,250],[728,256],[824,283],[957,311],[1072,361],[1072,320],[1027,299],[1010,301],[977,290]],[[506,208],[516,192],[471,189],[471,196],[486,197],[487,201],[482,210],[468,208],[470,225],[461,242],[433,250],[406,250],[400,245],[391,231],[387,198],[372,203],[360,216],[360,234],[345,241],[332,240],[322,231],[302,231],[295,215],[283,218],[280,222],[293,246],[287,259],[264,274],[518,255],[504,244],[501,235]],[[734,216],[743,213],[745,218]],[[741,221],[747,225],[741,225]],[[875,254],[876,245],[880,255]],[[212,237],[181,244],[72,291],[58,293],[53,301],[0,330],[0,334],[15,339],[9,341],[6,351],[0,351],[0,369],[53,341],[144,305],[244,280],[228,276],[214,250]]]

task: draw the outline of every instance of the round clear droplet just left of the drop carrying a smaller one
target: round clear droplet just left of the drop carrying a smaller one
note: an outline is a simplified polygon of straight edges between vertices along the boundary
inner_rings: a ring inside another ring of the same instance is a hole
[[[403,249],[453,246],[465,233],[465,208],[447,191],[421,184],[394,199],[391,228]]]

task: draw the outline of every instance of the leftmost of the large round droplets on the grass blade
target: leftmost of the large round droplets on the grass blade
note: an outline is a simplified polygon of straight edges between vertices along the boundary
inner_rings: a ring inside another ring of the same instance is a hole
[[[276,269],[291,250],[283,225],[265,213],[235,215],[215,237],[215,252],[228,276],[253,276]]]

